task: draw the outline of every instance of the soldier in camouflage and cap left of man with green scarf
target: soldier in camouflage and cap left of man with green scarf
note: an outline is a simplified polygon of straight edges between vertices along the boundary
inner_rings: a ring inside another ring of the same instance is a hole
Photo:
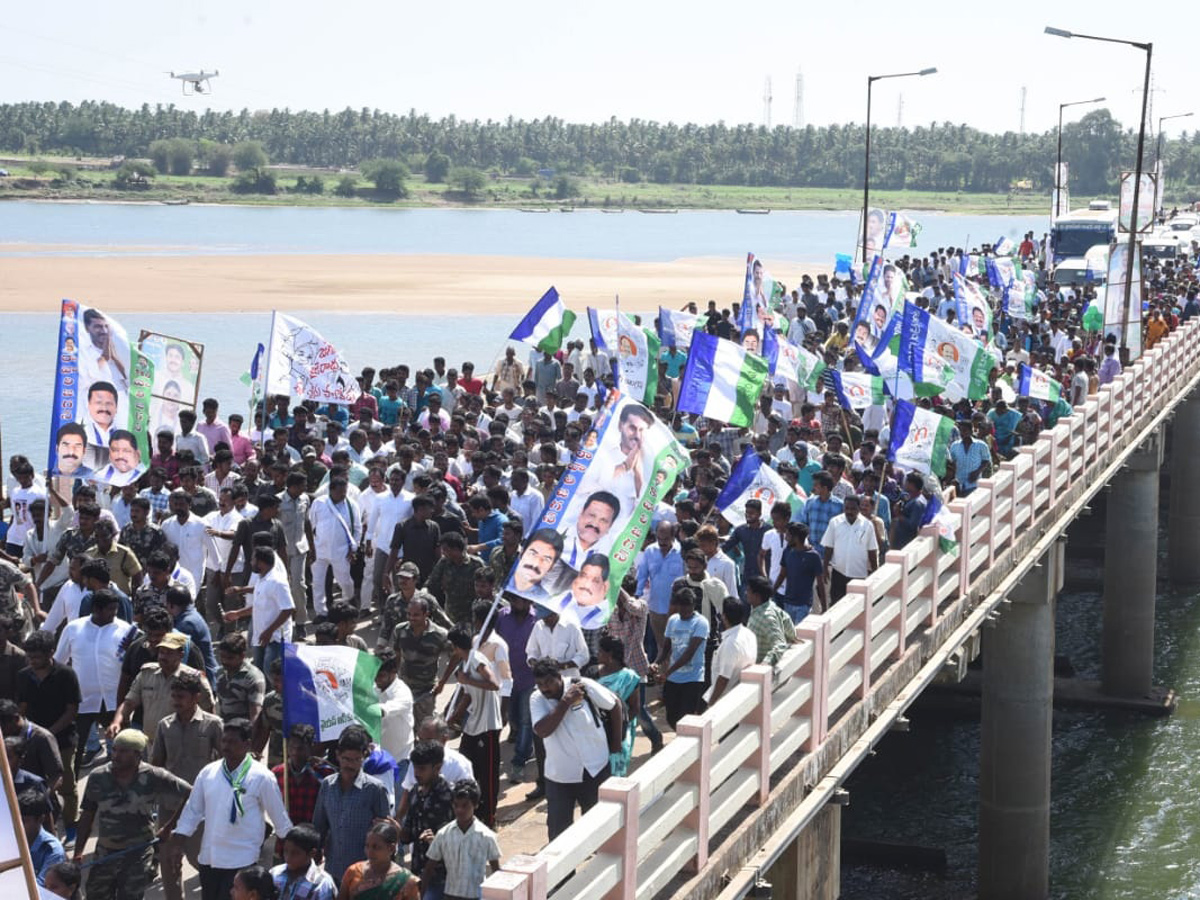
[[[145,746],[146,736],[140,731],[122,731],[113,739],[113,761],[88,776],[74,857],[82,863],[82,850],[96,826],[88,900],[142,900],[152,880],[155,808],[160,800],[180,803],[192,791],[181,778],[142,762]],[[158,835],[169,835],[176,818],[178,812],[158,823]],[[104,862],[104,857],[126,850],[131,852]]]

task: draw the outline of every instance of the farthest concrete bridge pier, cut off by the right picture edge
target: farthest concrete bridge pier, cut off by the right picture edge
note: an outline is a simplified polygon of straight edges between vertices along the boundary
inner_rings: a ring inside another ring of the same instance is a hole
[[[1200,392],[1175,408],[1166,560],[1171,581],[1200,583]]]

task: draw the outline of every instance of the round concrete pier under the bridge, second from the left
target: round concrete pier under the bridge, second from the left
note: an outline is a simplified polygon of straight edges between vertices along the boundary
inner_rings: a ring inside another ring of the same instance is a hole
[[[979,900],[1045,900],[1050,892],[1050,730],[1056,542],[1009,594],[983,636]]]

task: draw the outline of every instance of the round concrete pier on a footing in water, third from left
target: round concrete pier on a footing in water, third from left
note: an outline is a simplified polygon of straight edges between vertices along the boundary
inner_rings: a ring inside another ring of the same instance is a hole
[[[1194,419],[1200,432],[1200,414]],[[1148,697],[1153,688],[1162,436],[1138,448],[1109,485],[1100,691],[1110,697]]]

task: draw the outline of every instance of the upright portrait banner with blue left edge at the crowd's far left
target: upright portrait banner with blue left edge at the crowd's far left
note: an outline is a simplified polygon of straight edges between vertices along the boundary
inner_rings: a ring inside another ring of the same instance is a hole
[[[150,464],[154,362],[115,319],[64,300],[54,370],[48,469],[108,485],[136,481]]]

